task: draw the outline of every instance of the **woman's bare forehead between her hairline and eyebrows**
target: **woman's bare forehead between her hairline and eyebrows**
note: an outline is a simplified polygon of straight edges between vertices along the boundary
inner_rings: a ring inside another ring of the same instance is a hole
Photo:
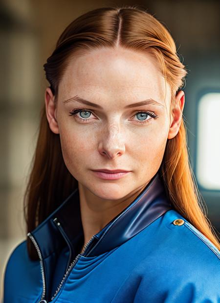
[[[79,94],[93,100],[110,97],[132,103],[134,98],[153,98],[164,103],[165,90],[163,74],[152,55],[101,48],[72,55],[59,85],[59,98]]]

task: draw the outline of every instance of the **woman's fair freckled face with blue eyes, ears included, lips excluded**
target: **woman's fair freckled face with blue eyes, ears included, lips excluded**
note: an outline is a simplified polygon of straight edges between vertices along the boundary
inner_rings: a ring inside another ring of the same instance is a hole
[[[184,93],[176,95],[170,114],[171,89],[167,84],[165,98],[164,77],[152,56],[102,48],[73,57],[56,104],[49,88],[45,103],[69,172],[94,195],[114,200],[143,188],[158,171],[167,140],[178,132]],[[104,180],[93,172],[99,169],[129,173]]]

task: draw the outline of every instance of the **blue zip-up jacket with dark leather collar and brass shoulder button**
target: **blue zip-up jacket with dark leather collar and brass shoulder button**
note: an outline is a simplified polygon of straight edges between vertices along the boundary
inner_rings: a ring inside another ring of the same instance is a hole
[[[158,173],[84,243],[79,191],[11,254],[3,303],[220,303],[220,251],[170,203]]]

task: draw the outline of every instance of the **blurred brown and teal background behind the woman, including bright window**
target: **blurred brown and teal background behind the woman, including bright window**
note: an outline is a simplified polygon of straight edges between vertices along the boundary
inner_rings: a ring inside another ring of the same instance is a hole
[[[220,1],[1,0],[0,294],[6,261],[26,236],[23,194],[47,86],[43,64],[73,19],[120,4],[142,5],[168,27],[188,69],[190,161],[208,217],[220,231]]]

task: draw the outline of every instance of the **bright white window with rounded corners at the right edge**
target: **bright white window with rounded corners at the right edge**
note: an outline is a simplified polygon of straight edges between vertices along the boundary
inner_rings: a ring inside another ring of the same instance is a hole
[[[198,102],[198,183],[220,190],[220,93],[206,93]]]

